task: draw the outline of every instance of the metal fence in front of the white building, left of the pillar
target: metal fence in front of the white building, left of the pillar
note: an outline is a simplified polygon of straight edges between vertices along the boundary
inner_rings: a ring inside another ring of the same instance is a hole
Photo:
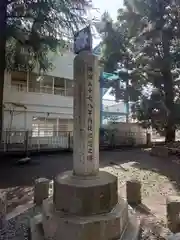
[[[3,152],[28,152],[45,149],[71,149],[72,132],[48,132],[34,136],[32,131],[4,131],[0,150]]]

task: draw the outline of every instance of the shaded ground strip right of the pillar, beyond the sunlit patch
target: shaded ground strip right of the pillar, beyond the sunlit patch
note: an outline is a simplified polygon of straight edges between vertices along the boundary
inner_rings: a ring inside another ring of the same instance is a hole
[[[108,158],[112,159],[109,160]],[[151,171],[166,176],[177,192],[180,192],[180,158],[170,156],[168,158],[158,158],[150,155],[149,149],[129,150],[121,152],[107,153],[103,166],[119,167],[123,171],[121,164],[131,163],[131,166],[140,170]]]

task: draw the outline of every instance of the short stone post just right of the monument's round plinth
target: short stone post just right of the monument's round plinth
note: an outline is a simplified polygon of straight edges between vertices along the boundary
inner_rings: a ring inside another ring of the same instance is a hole
[[[141,203],[141,182],[130,180],[126,183],[127,202],[130,205],[139,205]]]

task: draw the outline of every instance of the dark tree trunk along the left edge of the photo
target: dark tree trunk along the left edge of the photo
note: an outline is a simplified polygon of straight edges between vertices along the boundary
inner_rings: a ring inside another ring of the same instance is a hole
[[[7,17],[7,0],[0,0],[0,140],[3,131],[3,90],[4,90],[4,73],[6,69],[6,17]]]

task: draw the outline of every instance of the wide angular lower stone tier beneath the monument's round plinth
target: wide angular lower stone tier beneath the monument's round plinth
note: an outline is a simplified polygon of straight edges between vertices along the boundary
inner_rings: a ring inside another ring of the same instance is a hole
[[[113,240],[120,239],[128,224],[128,205],[121,201],[112,211],[94,216],[68,216],[54,209],[50,199],[43,201],[45,239]]]

